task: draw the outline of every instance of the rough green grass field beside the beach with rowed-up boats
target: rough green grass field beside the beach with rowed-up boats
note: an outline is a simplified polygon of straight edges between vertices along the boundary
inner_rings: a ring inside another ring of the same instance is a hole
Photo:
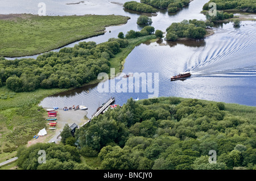
[[[46,112],[38,104],[46,96],[56,94],[66,89],[38,89],[33,92],[15,93],[0,88],[0,162],[3,153],[12,153],[20,145],[27,144],[40,129],[44,127]],[[3,160],[5,161],[5,160]]]

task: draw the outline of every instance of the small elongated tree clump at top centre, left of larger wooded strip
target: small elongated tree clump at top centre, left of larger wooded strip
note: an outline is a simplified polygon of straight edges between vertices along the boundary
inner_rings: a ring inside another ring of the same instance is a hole
[[[146,12],[146,13],[155,13],[158,11],[150,5],[145,5],[145,4],[136,2],[136,1],[125,2],[123,7],[125,7],[126,9],[129,9],[129,10],[134,10],[134,11],[138,11],[138,12]]]

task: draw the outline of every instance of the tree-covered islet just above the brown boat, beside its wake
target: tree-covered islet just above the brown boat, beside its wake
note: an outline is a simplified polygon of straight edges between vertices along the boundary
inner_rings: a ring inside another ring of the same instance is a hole
[[[178,38],[203,39],[207,31],[205,28],[212,27],[213,23],[203,20],[183,20],[180,23],[172,23],[166,29],[166,39],[168,41],[176,41]]]

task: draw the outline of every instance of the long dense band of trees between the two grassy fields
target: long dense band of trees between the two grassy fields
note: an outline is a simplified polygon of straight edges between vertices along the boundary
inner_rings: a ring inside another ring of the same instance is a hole
[[[79,87],[96,79],[100,72],[108,73],[110,58],[127,45],[123,39],[110,39],[98,45],[89,41],[59,52],[44,53],[36,60],[1,58],[0,86],[6,85],[15,92]]]

